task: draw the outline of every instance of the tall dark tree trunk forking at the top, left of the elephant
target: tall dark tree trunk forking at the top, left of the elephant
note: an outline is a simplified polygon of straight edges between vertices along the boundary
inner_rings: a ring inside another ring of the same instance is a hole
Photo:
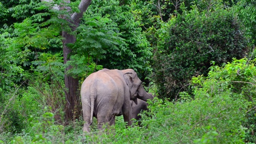
[[[53,2],[52,0],[42,0],[45,2]],[[69,16],[60,16],[64,20],[68,21],[69,28],[71,32],[74,32],[76,28],[79,26],[80,18],[82,18],[83,13],[87,10],[88,6],[90,5],[92,0],[81,0],[78,9],[80,12],[74,12],[73,14],[70,14]],[[64,0],[65,3],[70,4],[70,0]],[[55,5],[53,7],[56,10],[65,9],[68,12],[71,12],[70,6],[58,6]],[[66,30],[67,28],[64,28],[62,31],[62,43],[63,43],[63,57],[64,57],[64,64],[66,64],[69,59],[69,54],[71,53],[71,49],[68,48],[67,44],[76,42],[76,37],[72,34],[70,34],[70,31]],[[68,71],[72,66],[68,66],[65,70]],[[78,110],[77,106],[79,105],[79,93],[78,93],[78,79],[73,78],[72,76],[65,74],[65,87],[68,89],[66,92],[66,106],[65,106],[65,119],[66,120],[74,120],[78,118],[80,115],[80,111]]]

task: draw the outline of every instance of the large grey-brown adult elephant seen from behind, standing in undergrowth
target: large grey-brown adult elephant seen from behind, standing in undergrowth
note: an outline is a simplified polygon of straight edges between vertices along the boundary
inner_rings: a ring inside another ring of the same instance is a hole
[[[82,111],[84,118],[83,132],[90,132],[92,117],[98,122],[98,129],[103,124],[114,125],[115,116],[123,115],[126,126],[131,126],[132,106],[138,99],[147,101],[153,96],[145,92],[141,80],[132,69],[108,70],[106,68],[90,74],[81,86]]]

